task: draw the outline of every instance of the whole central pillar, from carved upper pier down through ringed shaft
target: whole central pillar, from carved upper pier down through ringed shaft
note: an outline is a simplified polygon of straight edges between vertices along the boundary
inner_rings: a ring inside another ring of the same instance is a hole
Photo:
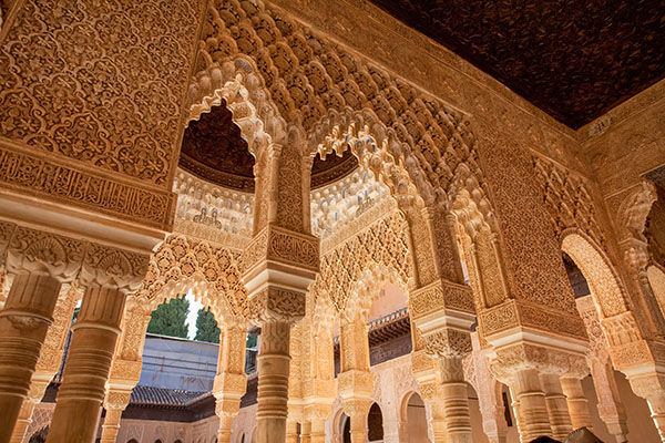
[[[260,326],[257,443],[286,439],[289,337],[305,316],[305,297],[319,269],[319,239],[310,234],[313,156],[293,130],[284,143],[257,153],[254,238],[242,257],[252,320]]]

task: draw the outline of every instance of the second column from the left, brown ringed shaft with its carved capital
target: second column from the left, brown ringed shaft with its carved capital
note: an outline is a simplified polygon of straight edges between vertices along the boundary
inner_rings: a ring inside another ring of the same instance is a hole
[[[47,442],[94,441],[126,293],[139,289],[147,260],[145,254],[94,244],[86,251],[80,276],[83,302]]]

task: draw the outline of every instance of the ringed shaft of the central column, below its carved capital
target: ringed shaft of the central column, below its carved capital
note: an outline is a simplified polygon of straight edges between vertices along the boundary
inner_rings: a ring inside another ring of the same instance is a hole
[[[269,320],[262,324],[258,352],[256,443],[284,442],[288,414],[288,342],[290,326]]]

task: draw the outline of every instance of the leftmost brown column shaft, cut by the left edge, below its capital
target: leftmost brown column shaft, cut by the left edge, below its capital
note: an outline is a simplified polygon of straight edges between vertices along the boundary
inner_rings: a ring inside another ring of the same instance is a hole
[[[18,274],[0,311],[0,442],[9,441],[28,395],[59,292],[45,274]]]

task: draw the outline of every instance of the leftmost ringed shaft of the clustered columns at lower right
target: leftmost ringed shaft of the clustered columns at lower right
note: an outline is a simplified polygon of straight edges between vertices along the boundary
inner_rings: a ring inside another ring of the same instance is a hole
[[[515,373],[511,393],[514,393],[515,400],[519,402],[522,442],[530,442],[541,435],[552,436],[545,394],[542,391],[538,371],[535,369],[519,370]]]

